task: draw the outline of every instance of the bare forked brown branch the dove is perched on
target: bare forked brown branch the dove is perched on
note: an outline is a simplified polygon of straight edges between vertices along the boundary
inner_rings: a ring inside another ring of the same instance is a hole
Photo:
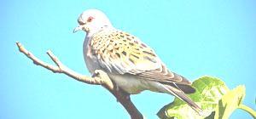
[[[143,119],[143,115],[131,102],[130,95],[126,94],[121,89],[117,90],[117,88],[115,88],[115,84],[111,81],[106,72],[96,70],[92,77],[87,77],[67,68],[67,66],[63,65],[61,61],[55,56],[55,54],[53,54],[50,50],[47,51],[47,54],[49,55],[49,58],[53,60],[55,65],[49,65],[43,60],[38,59],[36,56],[26,50],[26,48],[24,48],[20,42],[16,42],[16,44],[20,52],[25,54],[27,58],[32,59],[35,65],[41,65],[49,71],[53,71],[54,73],[66,74],[68,77],[72,77],[79,82],[85,82],[93,85],[102,85],[104,88],[107,88],[108,91],[116,97],[116,99],[119,100],[121,105],[125,107],[125,110],[130,114],[131,119]]]

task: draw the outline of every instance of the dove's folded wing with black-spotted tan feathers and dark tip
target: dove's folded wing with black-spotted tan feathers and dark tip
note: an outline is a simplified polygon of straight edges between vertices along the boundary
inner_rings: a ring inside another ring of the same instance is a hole
[[[90,47],[98,64],[110,73],[128,73],[158,82],[191,84],[184,77],[169,71],[152,48],[124,31],[100,31],[91,38]]]

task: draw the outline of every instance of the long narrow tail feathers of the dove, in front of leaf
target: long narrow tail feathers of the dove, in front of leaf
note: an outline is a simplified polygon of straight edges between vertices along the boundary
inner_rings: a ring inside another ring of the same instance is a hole
[[[172,87],[170,85],[166,85],[166,84],[163,84],[163,87],[166,88],[166,90],[168,91],[169,94],[173,94],[177,98],[182,99],[183,101],[185,101],[199,115],[201,115],[201,116],[205,115],[203,113],[203,111],[201,110],[201,107],[199,105],[195,104],[195,102],[192,99],[190,99],[186,94],[184,94],[181,89],[174,88],[174,87]]]

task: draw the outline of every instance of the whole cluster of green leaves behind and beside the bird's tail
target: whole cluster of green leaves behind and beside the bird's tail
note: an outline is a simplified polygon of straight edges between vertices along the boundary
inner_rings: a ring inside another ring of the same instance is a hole
[[[201,77],[195,80],[192,86],[196,92],[195,94],[188,94],[188,96],[201,106],[203,115],[199,115],[189,105],[177,98],[171,104],[164,106],[157,115],[163,119],[174,117],[177,119],[228,118],[233,111],[241,108],[242,99],[245,97],[244,86],[230,90],[224,82],[216,77]],[[256,112],[253,110],[245,111],[248,111],[253,117],[256,116]]]

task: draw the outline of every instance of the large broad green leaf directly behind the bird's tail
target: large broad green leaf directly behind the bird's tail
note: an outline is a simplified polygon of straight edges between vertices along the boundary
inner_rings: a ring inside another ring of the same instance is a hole
[[[196,89],[195,94],[188,96],[195,101],[197,105],[209,116],[218,105],[218,100],[229,91],[224,82],[216,77],[201,77],[192,83]],[[185,113],[184,113],[185,112]],[[188,118],[205,118],[189,107],[185,102],[175,98],[174,101],[164,106],[157,114],[160,118],[188,119]]]

